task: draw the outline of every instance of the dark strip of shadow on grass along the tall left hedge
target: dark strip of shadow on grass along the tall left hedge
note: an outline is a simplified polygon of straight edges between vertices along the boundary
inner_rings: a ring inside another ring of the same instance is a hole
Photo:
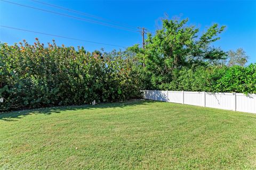
[[[86,104],[82,106],[62,106],[62,107],[39,108],[39,109],[3,112],[3,113],[0,113],[0,120],[17,121],[17,119],[23,118],[23,116],[32,115],[32,114],[51,115],[54,113],[60,113],[61,111],[67,111],[67,110],[84,110],[84,109],[97,109],[97,108],[124,108],[127,106],[137,106],[141,104],[147,104],[150,102],[154,102],[154,101],[131,100],[126,102],[99,103],[94,106]]]

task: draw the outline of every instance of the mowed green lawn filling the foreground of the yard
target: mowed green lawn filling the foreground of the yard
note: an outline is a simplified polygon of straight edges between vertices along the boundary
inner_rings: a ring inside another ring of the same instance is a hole
[[[130,101],[0,114],[1,169],[256,169],[256,115]]]

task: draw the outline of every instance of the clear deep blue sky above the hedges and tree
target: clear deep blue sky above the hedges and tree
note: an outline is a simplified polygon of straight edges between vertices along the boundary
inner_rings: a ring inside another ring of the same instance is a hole
[[[117,23],[86,17],[33,1],[6,1],[117,25]],[[221,39],[214,43],[214,46],[221,47],[225,51],[242,47],[250,56],[249,63],[256,62],[256,1],[38,1],[95,15],[118,22],[118,25],[119,22],[124,23],[129,25],[129,29],[130,26],[132,29],[145,27],[153,33],[157,27],[161,26],[160,21],[165,13],[169,15],[170,19],[173,17],[189,18],[189,25],[195,25],[202,32],[213,23],[218,23],[221,26],[227,26],[227,28],[221,34]],[[141,35],[137,32],[98,25],[3,1],[0,1],[0,24],[120,46],[141,43]],[[38,37],[42,43],[51,42],[52,39],[55,39],[58,45],[84,46],[87,51],[99,50],[101,47],[104,47],[106,51],[114,48],[119,49],[119,47],[114,46],[27,33],[9,28],[0,27],[0,29],[0,41],[8,44],[20,42],[22,39],[33,43],[35,37]]]

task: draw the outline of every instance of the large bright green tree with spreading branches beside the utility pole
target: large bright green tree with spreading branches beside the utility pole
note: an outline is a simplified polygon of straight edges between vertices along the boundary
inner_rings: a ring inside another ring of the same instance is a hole
[[[162,83],[170,83],[172,71],[182,66],[206,66],[218,64],[226,59],[226,53],[220,48],[210,46],[220,39],[218,35],[225,26],[212,25],[198,36],[199,29],[187,26],[188,19],[163,20],[163,28],[153,36],[148,34],[145,50],[142,50],[145,61],[145,75],[151,74],[151,83],[157,87]],[[138,50],[139,51],[139,50]]]

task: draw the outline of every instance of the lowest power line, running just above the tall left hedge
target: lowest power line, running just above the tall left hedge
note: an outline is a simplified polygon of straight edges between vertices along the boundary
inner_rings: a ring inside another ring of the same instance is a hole
[[[9,26],[0,26],[0,27],[10,28],[10,29],[16,29],[16,30],[21,30],[21,31],[27,31],[27,32],[30,32],[30,33],[43,34],[43,35],[48,35],[48,36],[53,36],[53,37],[59,37],[59,38],[73,39],[73,40],[76,40],[76,41],[82,41],[82,42],[87,42],[87,43],[102,44],[102,45],[109,45],[109,46],[117,46],[117,47],[126,48],[126,47],[120,46],[120,45],[114,45],[114,44],[106,44],[106,43],[99,43],[99,42],[87,41],[87,40],[84,40],[84,39],[78,39],[78,38],[71,38],[71,37],[60,36],[60,35],[54,35],[54,34],[41,33],[41,32],[38,32],[38,31],[31,31],[31,30],[21,29],[21,28],[14,28],[14,27],[9,27]]]

